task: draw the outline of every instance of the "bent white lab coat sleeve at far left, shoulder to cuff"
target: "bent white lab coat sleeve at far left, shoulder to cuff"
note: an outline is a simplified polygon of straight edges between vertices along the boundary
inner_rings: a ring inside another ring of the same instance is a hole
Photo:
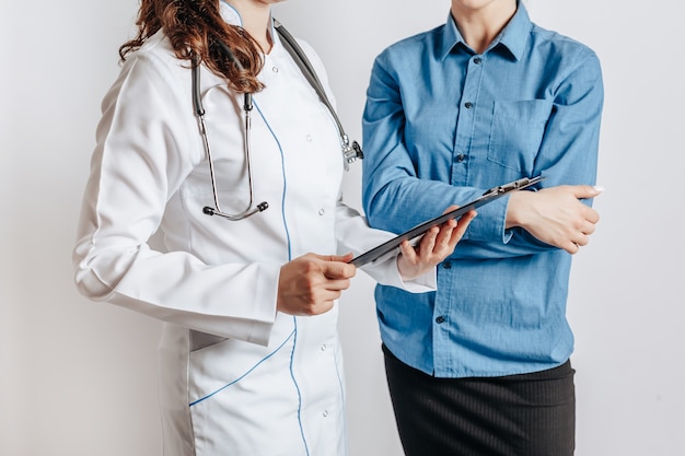
[[[267,344],[279,265],[207,265],[149,243],[170,197],[202,159],[190,71],[131,56],[103,116],[73,250],[79,291],[191,329]]]

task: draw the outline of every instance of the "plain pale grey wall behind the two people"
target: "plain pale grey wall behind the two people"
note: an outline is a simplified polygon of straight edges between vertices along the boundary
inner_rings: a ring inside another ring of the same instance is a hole
[[[100,101],[133,32],[136,0],[2,0],[0,38],[0,454],[159,455],[160,324],[77,294],[71,248]],[[578,456],[685,454],[676,0],[530,0],[534,21],[593,47],[606,105],[599,231],[574,258]],[[348,132],[373,57],[446,19],[448,0],[291,0],[275,14],[326,63]],[[359,208],[360,166],[346,195]],[[341,300],[352,456],[400,447],[385,388],[372,282]]]

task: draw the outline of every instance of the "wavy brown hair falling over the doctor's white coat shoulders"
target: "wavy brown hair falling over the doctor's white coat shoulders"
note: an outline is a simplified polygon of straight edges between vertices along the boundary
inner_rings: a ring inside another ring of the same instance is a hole
[[[220,0],[141,0],[136,25],[138,34],[119,48],[121,61],[129,52],[163,30],[178,59],[204,62],[229,80],[229,87],[244,92],[264,89],[257,74],[264,66],[260,47],[242,27],[227,24],[219,13]],[[233,52],[242,69],[222,50]]]

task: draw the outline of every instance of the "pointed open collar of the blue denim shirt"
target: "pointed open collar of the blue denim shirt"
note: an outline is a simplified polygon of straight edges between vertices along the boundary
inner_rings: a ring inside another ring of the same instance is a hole
[[[492,40],[486,52],[501,45],[511,52],[514,59],[521,59],[532,26],[533,24],[525,7],[523,3],[519,2],[516,12],[499,36]],[[452,13],[450,13],[444,27],[440,57],[444,59],[457,44],[467,46],[464,36],[462,36],[462,33],[456,27],[456,22],[454,17],[452,17]]]

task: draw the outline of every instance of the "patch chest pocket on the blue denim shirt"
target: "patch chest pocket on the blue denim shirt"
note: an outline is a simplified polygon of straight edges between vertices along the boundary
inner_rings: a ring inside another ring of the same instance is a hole
[[[545,100],[495,102],[488,161],[522,174],[532,173],[553,106]]]

